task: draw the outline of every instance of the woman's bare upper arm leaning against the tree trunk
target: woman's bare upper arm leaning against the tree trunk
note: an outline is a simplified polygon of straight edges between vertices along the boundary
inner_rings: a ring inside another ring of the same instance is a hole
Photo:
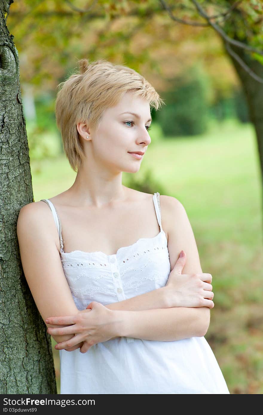
[[[43,320],[50,315],[77,314],[79,310],[72,298],[55,243],[56,238],[59,241],[57,228],[45,203],[33,202],[20,209],[17,238],[25,278]],[[74,334],[52,337],[59,343],[71,339]]]

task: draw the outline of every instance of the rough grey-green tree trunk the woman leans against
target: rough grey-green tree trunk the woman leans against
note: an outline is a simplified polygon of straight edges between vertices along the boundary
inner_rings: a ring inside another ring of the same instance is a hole
[[[25,279],[16,224],[34,201],[17,49],[0,0],[0,393],[57,393],[51,338]]]

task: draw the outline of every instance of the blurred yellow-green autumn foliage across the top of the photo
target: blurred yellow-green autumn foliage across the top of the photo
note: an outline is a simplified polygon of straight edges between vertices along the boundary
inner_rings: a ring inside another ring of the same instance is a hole
[[[219,85],[223,93],[231,90],[239,79],[256,130],[263,180],[262,16],[259,0],[97,0],[88,6],[85,0],[77,5],[24,0],[14,2],[9,28],[29,56],[21,66],[23,82],[44,91],[54,90],[72,73],[77,56],[123,61],[147,72],[160,91],[197,56],[206,61],[215,93]]]

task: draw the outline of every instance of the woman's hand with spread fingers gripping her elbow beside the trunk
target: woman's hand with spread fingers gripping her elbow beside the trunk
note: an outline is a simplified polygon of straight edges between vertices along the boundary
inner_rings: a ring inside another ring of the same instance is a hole
[[[48,321],[47,321],[48,320]],[[49,324],[68,325],[62,328],[49,327],[47,332],[54,335],[75,334],[66,342],[58,343],[55,349],[76,350],[86,353],[93,344],[106,342],[116,335],[116,312],[96,301],[89,303],[86,310],[66,317],[49,317]]]

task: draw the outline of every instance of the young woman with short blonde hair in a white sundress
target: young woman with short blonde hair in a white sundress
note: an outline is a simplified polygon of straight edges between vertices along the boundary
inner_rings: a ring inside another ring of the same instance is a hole
[[[79,66],[56,101],[76,180],[17,222],[29,288],[58,343],[61,393],[229,394],[204,338],[212,276],[183,205],[122,184],[140,169],[150,108],[163,101],[126,66]]]

